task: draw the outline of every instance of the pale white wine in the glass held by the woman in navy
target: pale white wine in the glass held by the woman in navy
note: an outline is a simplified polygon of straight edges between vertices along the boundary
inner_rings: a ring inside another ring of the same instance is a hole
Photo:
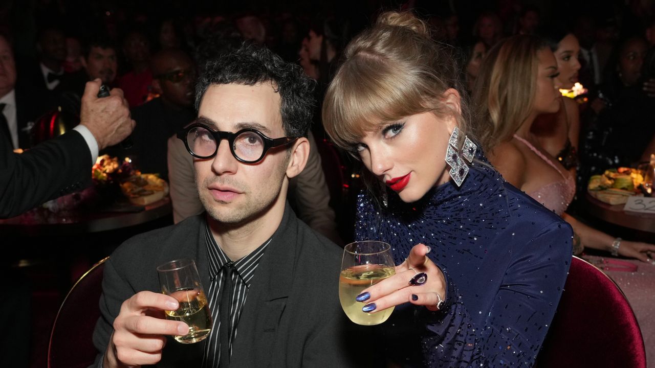
[[[383,265],[360,265],[348,267],[339,275],[339,301],[346,316],[358,325],[377,325],[383,323],[394,311],[394,307],[375,313],[362,312],[365,303],[355,300],[367,287],[381,282],[396,273],[394,267]]]

